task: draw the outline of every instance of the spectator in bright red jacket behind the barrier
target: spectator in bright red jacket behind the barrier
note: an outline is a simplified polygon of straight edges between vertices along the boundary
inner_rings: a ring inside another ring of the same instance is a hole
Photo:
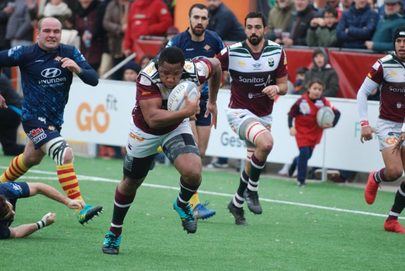
[[[162,0],[136,0],[132,2],[124,34],[124,54],[136,51],[135,42],[140,36],[164,36],[173,24],[169,9]]]

